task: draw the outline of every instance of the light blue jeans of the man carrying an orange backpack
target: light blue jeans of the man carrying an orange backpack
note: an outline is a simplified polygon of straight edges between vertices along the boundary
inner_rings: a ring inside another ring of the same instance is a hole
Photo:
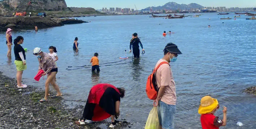
[[[169,105],[159,101],[158,118],[163,129],[174,129],[174,115],[176,114],[176,105]]]

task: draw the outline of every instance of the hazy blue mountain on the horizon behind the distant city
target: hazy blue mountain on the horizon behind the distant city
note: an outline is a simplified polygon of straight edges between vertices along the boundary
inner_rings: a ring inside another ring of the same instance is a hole
[[[197,9],[197,8],[201,8],[201,7],[204,7],[202,5],[199,5],[199,4],[196,4],[196,3],[191,3],[191,4],[177,4],[176,2],[168,2],[166,3],[165,5],[163,6],[157,6],[157,7],[147,7],[145,10],[150,10],[150,8],[152,8],[153,11],[155,10],[164,10],[164,9],[167,9],[167,10],[177,10],[177,9],[180,9],[180,10],[188,10],[188,9]]]

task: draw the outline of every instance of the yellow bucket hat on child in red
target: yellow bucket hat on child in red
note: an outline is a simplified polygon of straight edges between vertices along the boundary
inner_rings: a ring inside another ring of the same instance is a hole
[[[219,102],[217,99],[211,98],[210,96],[205,96],[201,99],[201,104],[198,109],[199,114],[207,114],[212,112],[217,108]]]

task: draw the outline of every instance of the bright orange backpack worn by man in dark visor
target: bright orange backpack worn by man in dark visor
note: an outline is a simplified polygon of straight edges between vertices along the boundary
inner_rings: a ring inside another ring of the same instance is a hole
[[[158,90],[157,90],[157,81],[156,81],[156,79],[155,79],[155,72],[157,71],[157,69],[161,66],[161,65],[163,65],[163,64],[168,64],[169,65],[169,63],[167,63],[167,62],[161,62],[158,66],[157,66],[157,68],[155,68],[154,70],[153,70],[153,73],[152,74],[150,74],[149,76],[148,76],[148,80],[147,80],[147,82],[146,82],[146,94],[148,95],[148,98],[149,99],[152,99],[152,100],[155,100],[155,99],[157,99],[157,93],[158,93]]]

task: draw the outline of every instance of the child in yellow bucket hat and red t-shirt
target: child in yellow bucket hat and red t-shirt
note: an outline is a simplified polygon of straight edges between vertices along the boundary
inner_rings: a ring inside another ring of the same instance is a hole
[[[227,124],[227,108],[223,107],[223,120],[214,116],[214,113],[219,109],[217,99],[205,96],[201,99],[201,104],[198,113],[201,114],[201,124],[203,129],[219,129]]]

